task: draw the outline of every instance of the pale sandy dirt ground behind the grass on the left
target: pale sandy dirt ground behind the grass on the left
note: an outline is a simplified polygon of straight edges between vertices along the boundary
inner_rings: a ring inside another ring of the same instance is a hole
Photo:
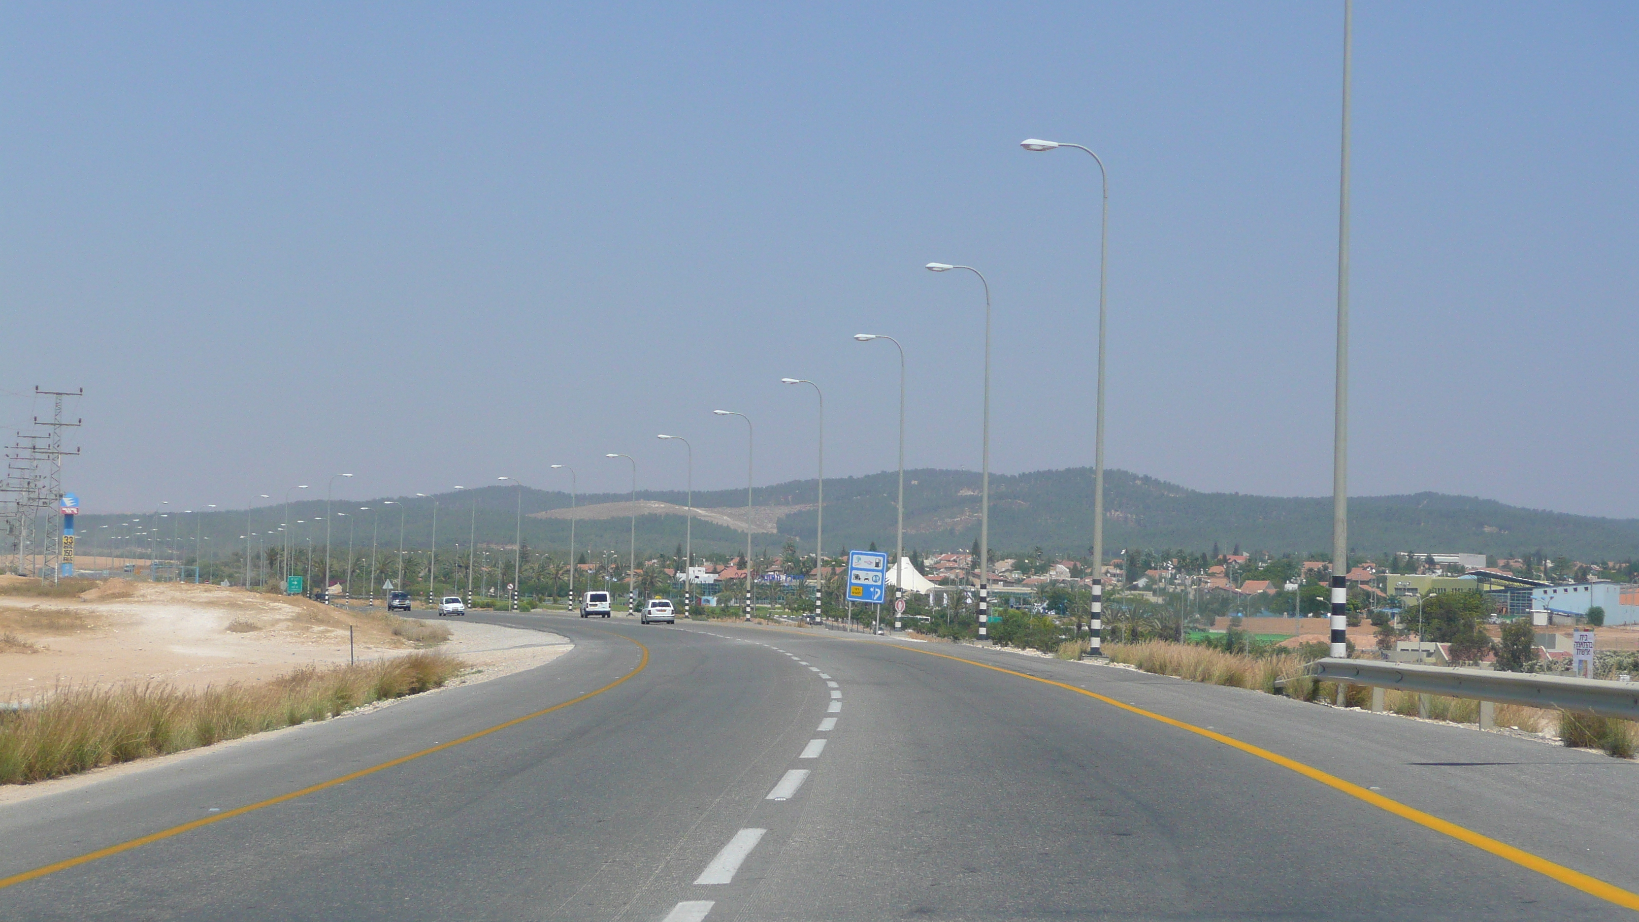
[[[77,597],[34,597],[10,594],[16,581],[33,582],[0,577],[0,701],[62,684],[164,681],[198,689],[270,679],[298,666],[346,663],[349,627],[359,660],[436,648],[495,673],[567,650],[556,635],[457,618],[434,622],[456,632],[451,641],[418,645],[393,635],[382,607],[326,607],[238,587],[111,579]]]

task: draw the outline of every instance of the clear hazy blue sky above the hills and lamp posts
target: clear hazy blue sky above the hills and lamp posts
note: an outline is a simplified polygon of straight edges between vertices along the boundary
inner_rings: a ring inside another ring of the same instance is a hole
[[[1341,3],[0,11],[0,425],[90,510],[1108,463],[1326,494]],[[1351,492],[1639,515],[1639,13],[1355,7]]]

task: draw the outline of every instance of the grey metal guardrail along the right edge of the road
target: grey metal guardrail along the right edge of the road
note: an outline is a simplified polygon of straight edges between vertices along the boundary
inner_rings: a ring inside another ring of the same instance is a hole
[[[1639,720],[1639,682],[1333,658],[1310,663],[1306,673],[1328,682]]]

